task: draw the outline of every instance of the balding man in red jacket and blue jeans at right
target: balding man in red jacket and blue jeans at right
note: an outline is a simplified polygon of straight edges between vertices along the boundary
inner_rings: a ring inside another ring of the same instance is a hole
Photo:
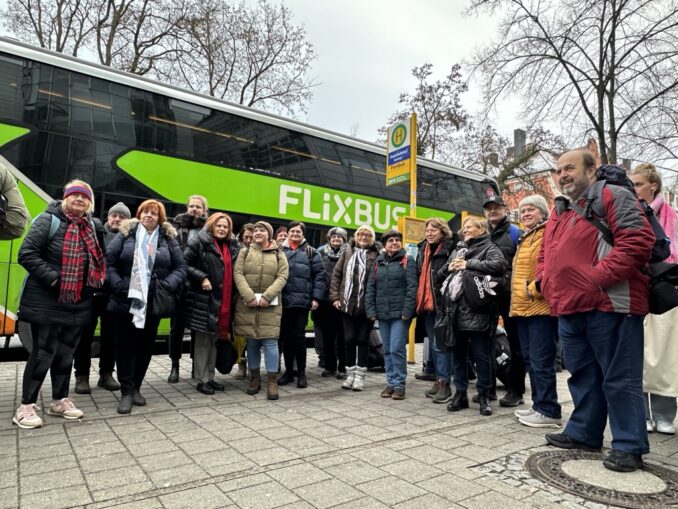
[[[596,163],[586,150],[558,159],[556,200],[537,263],[536,281],[558,316],[558,332],[574,411],[563,433],[546,440],[564,449],[599,451],[609,414],[612,451],[603,464],[620,472],[642,465],[650,447],[643,408],[643,316],[649,278],[642,269],[654,244],[652,228],[628,190],[606,185],[590,196]],[[602,200],[614,246],[572,210]]]

